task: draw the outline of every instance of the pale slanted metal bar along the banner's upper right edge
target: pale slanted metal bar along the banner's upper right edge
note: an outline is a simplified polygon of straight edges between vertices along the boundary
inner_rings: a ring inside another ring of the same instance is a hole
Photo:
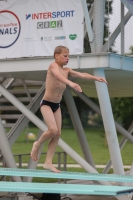
[[[93,33],[92,27],[91,27],[91,20],[90,20],[90,16],[89,16],[89,13],[88,13],[86,0],[81,0],[81,4],[82,4],[82,7],[83,7],[83,12],[84,12],[84,16],[85,16],[85,23],[86,23],[89,41],[93,42],[94,33]]]

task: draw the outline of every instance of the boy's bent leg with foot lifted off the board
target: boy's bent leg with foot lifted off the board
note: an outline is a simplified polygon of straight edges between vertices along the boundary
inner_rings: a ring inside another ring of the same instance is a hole
[[[41,107],[41,112],[42,112],[43,118],[45,120],[45,123],[48,127],[48,130],[45,131],[41,135],[39,140],[34,142],[34,144],[33,144],[33,148],[32,148],[32,151],[31,151],[31,158],[34,161],[36,161],[38,159],[37,156],[38,156],[38,151],[39,151],[40,146],[44,142],[46,142],[47,140],[55,137],[58,133],[58,128],[57,128],[57,125],[56,125],[55,116],[54,116],[51,108],[49,106],[44,105],[44,106]]]

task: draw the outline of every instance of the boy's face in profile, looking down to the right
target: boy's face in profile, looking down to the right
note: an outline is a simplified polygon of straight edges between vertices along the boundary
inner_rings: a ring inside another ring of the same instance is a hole
[[[69,61],[69,51],[67,49],[62,49],[60,54],[55,54],[55,60],[62,66],[67,65]]]

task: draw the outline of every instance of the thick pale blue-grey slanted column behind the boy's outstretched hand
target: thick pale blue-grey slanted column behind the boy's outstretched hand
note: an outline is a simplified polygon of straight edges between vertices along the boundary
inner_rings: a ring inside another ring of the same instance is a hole
[[[94,75],[99,77],[105,77],[103,69],[95,69]],[[105,128],[113,169],[116,174],[124,175],[123,163],[119,149],[118,138],[115,129],[115,123],[114,123],[110,98],[108,94],[108,89],[104,83],[99,83],[96,81],[95,84],[101,107],[103,124]]]

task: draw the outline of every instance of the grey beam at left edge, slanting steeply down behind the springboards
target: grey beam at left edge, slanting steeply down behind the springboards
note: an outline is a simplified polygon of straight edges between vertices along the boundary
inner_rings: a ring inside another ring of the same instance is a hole
[[[1,118],[0,118],[0,149],[1,149],[2,155],[4,156],[7,166],[10,168],[17,168]],[[13,176],[12,179],[14,181],[21,182],[20,177]]]

